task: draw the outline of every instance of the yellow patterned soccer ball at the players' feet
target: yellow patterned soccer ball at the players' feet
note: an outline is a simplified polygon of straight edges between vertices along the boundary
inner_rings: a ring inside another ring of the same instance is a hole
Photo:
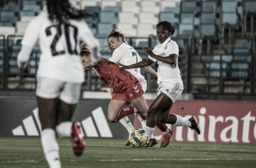
[[[132,146],[135,147],[142,147],[146,144],[148,141],[147,132],[141,128],[135,128],[130,134],[129,134],[129,142]]]

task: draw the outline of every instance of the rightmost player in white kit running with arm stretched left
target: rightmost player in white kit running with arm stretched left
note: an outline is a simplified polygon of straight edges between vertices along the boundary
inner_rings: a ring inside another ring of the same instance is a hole
[[[148,59],[129,66],[121,65],[123,69],[134,69],[158,62],[158,96],[148,110],[144,129],[148,134],[148,138],[152,136],[156,122],[173,124],[174,126],[188,126],[195,130],[197,134],[200,134],[197,120],[193,116],[191,118],[183,118],[176,114],[170,114],[172,104],[183,91],[183,81],[178,65],[179,47],[176,42],[170,39],[170,36],[174,34],[174,27],[170,22],[159,22],[156,25],[156,34],[160,43],[153,50],[147,46],[143,47],[143,50],[148,54]],[[170,139],[162,139],[162,141],[164,142],[162,142],[161,146],[164,147],[168,145]]]

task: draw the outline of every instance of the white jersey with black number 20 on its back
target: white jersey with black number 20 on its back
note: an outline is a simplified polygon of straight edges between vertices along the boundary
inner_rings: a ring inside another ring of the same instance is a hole
[[[39,40],[41,55],[38,76],[81,83],[84,81],[79,58],[81,38],[91,48],[99,45],[84,20],[70,19],[67,24],[58,26],[49,20],[46,12],[42,12],[28,24],[22,45],[32,48]]]

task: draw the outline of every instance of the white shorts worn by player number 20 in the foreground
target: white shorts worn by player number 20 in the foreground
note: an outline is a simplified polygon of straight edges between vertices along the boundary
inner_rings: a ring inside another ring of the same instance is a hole
[[[67,83],[48,77],[37,77],[36,95],[46,99],[59,97],[69,104],[78,103],[82,83]]]

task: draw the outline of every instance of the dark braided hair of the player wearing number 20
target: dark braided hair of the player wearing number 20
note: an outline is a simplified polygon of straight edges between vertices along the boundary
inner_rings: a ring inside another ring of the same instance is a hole
[[[47,0],[47,10],[51,22],[63,24],[68,19],[82,19],[86,15],[84,11],[75,9],[69,0]]]

